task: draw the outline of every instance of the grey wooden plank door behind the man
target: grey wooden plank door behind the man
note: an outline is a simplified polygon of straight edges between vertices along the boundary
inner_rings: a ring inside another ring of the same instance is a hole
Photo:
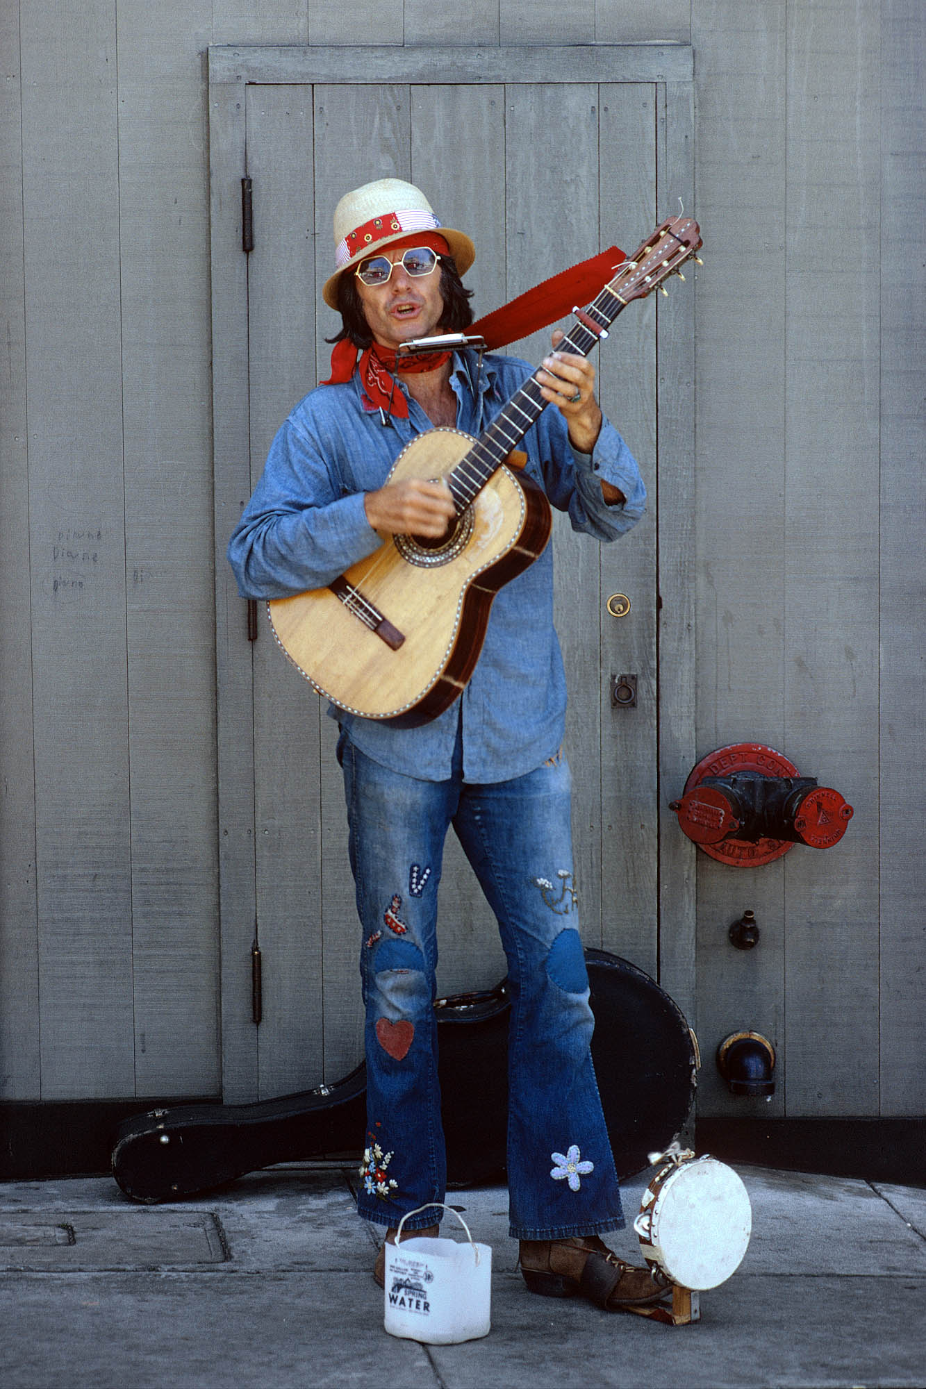
[[[236,219],[235,156],[253,190],[246,265],[241,251],[232,265],[225,229],[213,231],[214,242],[222,238],[220,264],[234,269],[231,286],[220,288],[214,278],[217,307],[242,354],[235,363],[232,344],[217,339],[217,360],[228,363],[227,374],[217,375],[217,444],[232,383],[243,382],[246,368],[246,407],[238,399],[227,421],[229,444],[241,454],[231,488],[217,449],[220,553],[277,426],[327,375],[324,339],[339,321],[320,307],[318,289],[330,274],[332,213],[343,192],[382,176],[421,186],[446,225],[474,238],[477,261],[466,282],[476,292],[477,314],[609,244],[633,251],[658,210],[665,211],[659,178],[666,93],[655,81],[595,75],[551,82],[523,74],[502,81],[503,72],[498,81],[453,81],[448,72],[444,81],[424,83],[414,79],[417,69],[402,74],[403,81],[304,81],[292,61],[303,50],[278,51],[284,56],[271,69],[266,50],[259,60],[271,81],[257,72],[236,92],[220,88],[218,63],[213,71],[213,92],[221,99],[213,101],[214,217]],[[574,69],[569,50],[566,56],[566,68],[553,64],[559,76]],[[216,199],[218,164],[229,175],[224,210]],[[566,750],[576,782],[583,936],[653,974],[660,828],[658,333],[655,299],[631,306],[599,363],[603,408],[641,461],[648,517],[613,546],[574,536],[558,517],[553,539],[556,622],[570,685]],[[539,361],[548,342],[548,333],[539,333],[509,351]],[[662,393],[665,399],[665,385]],[[220,656],[225,1095],[267,1097],[323,1076],[336,1079],[359,1060],[359,936],[334,758],[336,728],[282,660],[263,614],[249,647],[245,604],[228,581],[220,568],[228,643],[227,664]],[[615,593],[630,600],[624,617],[608,610]],[[637,678],[634,708],[612,706],[612,679],[622,674]],[[252,939],[261,951],[259,1028],[246,1017],[242,983]],[[441,886],[441,990],[491,986],[503,974],[495,922],[450,839]]]

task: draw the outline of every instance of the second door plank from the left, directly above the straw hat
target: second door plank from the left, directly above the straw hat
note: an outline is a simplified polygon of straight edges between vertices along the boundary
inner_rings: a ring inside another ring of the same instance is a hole
[[[316,89],[316,300],[334,265],[334,210],[350,189],[377,178],[410,178],[407,86]],[[318,361],[331,349],[321,340],[341,326],[336,314],[318,314]],[[327,371],[325,371],[327,375]],[[360,926],[348,863],[343,779],[334,757],[336,725],[321,715],[321,883],[324,1072],[334,1081],[363,1056],[363,1004],[357,976]]]

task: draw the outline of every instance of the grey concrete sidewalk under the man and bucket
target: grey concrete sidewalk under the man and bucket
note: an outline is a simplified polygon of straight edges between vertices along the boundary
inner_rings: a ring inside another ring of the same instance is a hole
[[[738,1168],[754,1207],[701,1321],[665,1326],[531,1296],[506,1192],[453,1192],[492,1246],[492,1331],[421,1346],[382,1329],[355,1174],[274,1168],[139,1207],[106,1178],[0,1186],[4,1389],[923,1389],[926,1190]],[[628,1226],[649,1174],[624,1185]],[[448,1220],[446,1232],[450,1232]],[[635,1235],[609,1236],[640,1263]]]

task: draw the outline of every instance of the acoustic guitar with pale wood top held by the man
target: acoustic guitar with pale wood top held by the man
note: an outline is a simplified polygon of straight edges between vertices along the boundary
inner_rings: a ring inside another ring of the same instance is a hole
[[[698,224],[670,217],[623,261],[559,343],[587,357],[627,304],[645,299],[701,247]],[[492,599],[542,553],[551,511],[506,458],[546,401],[535,375],[478,439],[431,429],[413,439],[388,482],[444,478],[456,517],[438,540],[384,536],[327,588],[267,604],[284,653],[320,694],[350,714],[414,726],[457,699],[480,656]]]

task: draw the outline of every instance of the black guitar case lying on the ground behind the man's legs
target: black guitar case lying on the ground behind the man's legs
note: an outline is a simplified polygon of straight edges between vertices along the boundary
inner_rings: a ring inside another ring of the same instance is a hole
[[[585,950],[595,1014],[592,1058],[619,1176],[669,1146],[694,1103],[697,1043],[680,1008],[635,965]],[[506,983],[435,1003],[448,1185],[505,1176]],[[117,1131],[113,1175],[152,1204],[196,1196],[274,1163],[357,1154],[366,1068],[334,1085],[259,1104],[149,1110]]]

